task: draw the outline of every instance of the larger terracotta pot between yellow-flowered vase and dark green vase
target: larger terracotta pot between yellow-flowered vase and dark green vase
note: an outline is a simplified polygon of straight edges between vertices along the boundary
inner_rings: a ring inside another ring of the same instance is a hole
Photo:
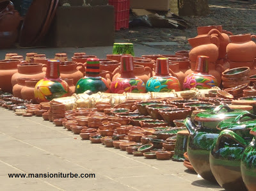
[[[76,63],[75,61],[60,62],[60,77],[63,79],[73,79],[74,84],[84,77],[84,72],[85,68],[82,63]]]

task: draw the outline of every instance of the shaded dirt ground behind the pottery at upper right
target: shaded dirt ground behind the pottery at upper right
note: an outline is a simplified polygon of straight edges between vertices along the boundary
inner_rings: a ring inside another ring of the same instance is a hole
[[[177,45],[157,46],[175,52],[191,49],[188,38],[197,35],[198,26],[221,25],[233,34],[256,33],[256,4],[248,1],[209,0],[209,8],[211,12],[207,16],[182,17],[191,26],[188,29],[130,27],[116,31],[115,39],[131,43],[177,42]]]

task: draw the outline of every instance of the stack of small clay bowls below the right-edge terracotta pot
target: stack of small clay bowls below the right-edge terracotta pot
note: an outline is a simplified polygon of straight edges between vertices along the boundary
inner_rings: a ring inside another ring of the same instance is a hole
[[[250,84],[250,68],[239,67],[226,70],[222,73],[221,79],[224,88],[234,88],[241,84]]]

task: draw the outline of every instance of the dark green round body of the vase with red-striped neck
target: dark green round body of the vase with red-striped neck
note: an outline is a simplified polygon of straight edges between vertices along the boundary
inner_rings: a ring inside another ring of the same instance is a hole
[[[84,93],[90,90],[92,93],[109,93],[109,85],[103,77],[83,77],[76,84],[76,93]]]

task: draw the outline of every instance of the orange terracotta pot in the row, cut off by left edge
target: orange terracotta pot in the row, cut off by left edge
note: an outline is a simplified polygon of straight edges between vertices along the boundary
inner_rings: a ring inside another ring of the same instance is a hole
[[[6,93],[12,93],[12,75],[17,72],[19,59],[0,61],[0,88]]]

